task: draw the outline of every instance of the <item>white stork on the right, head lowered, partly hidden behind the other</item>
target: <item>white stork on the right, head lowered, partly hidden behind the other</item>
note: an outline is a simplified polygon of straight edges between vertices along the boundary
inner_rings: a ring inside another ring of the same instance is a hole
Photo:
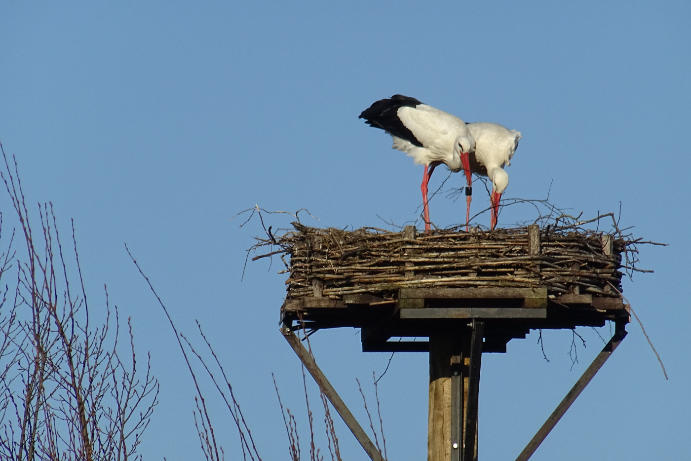
[[[513,153],[518,149],[518,140],[522,136],[520,131],[509,130],[496,123],[470,123],[468,129],[475,138],[475,153],[470,158],[470,171],[481,176],[489,176],[492,181],[490,229],[494,229],[499,215],[499,200],[502,198],[504,189],[509,185],[509,175],[504,171],[504,165],[507,167],[511,165],[510,160]],[[470,175],[466,174],[466,179],[468,180],[468,188],[470,188]],[[466,195],[468,196],[467,230],[471,198],[468,191],[466,191]]]

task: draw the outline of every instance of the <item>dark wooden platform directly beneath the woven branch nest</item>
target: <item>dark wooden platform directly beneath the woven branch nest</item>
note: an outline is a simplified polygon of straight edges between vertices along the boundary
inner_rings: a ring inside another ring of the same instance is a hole
[[[370,294],[287,299],[281,321],[302,318],[309,330],[361,328],[363,352],[429,352],[430,335],[462,334],[469,319],[484,321],[482,352],[507,352],[507,343],[530,330],[628,323],[621,299],[591,294],[548,297],[546,288],[404,288],[395,299]],[[294,328],[298,328],[297,325]],[[391,338],[417,338],[393,340]]]

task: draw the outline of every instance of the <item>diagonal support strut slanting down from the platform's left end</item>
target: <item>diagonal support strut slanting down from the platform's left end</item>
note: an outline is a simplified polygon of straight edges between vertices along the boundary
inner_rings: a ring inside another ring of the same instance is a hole
[[[316,365],[316,361],[314,361],[310,352],[307,352],[307,349],[305,349],[300,339],[287,326],[281,328],[281,333],[302,361],[305,368],[307,368],[307,371],[310,372],[310,375],[314,378],[314,382],[319,386],[321,392],[329,399],[329,402],[336,408],[339,415],[341,415],[343,422],[348,426],[348,429],[350,429],[357,441],[360,442],[370,459],[372,461],[384,461],[384,458],[381,456],[381,453],[379,453],[379,450],[377,450],[375,444],[372,443],[372,440],[370,440],[365,431],[363,431],[362,426],[360,426],[352,413],[350,413],[350,410],[345,406],[345,403],[343,403],[343,400],[341,400],[341,397],[336,393],[336,390],[331,386],[328,379],[321,373],[319,366]]]

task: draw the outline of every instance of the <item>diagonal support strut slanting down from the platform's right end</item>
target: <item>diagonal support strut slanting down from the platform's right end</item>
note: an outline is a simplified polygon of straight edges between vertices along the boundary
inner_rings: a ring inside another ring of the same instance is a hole
[[[557,406],[557,408],[552,412],[551,415],[547,418],[547,421],[545,421],[545,424],[542,424],[542,427],[536,433],[536,435],[533,437],[533,439],[527,444],[527,446],[523,449],[523,451],[518,455],[518,458],[516,458],[516,461],[528,461],[529,458],[535,453],[535,451],[538,449],[538,446],[542,443],[543,440],[547,437],[549,432],[554,429],[554,426],[559,422],[561,417],[566,413],[566,411],[569,409],[571,404],[573,404],[576,401],[576,398],[578,398],[578,395],[580,395],[581,392],[583,392],[583,389],[585,389],[585,386],[588,385],[591,379],[595,376],[596,373],[602,368],[602,366],[605,364],[605,361],[609,359],[609,356],[612,355],[612,352],[619,346],[621,341],[626,337],[627,332],[625,330],[626,324],[624,322],[617,322],[616,323],[616,330],[614,330],[614,336],[612,336],[612,339],[609,340],[607,344],[605,344],[605,347],[603,350],[598,354],[597,357],[595,357],[593,363],[590,364],[590,366],[585,370],[583,375],[578,379],[576,384],[574,384],[574,387],[571,388],[571,391],[564,397],[564,399],[561,401],[561,403]]]

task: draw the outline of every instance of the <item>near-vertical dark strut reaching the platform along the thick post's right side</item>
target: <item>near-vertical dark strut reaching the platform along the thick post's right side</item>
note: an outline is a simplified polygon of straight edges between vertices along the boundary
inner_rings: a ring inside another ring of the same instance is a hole
[[[477,404],[480,396],[480,365],[484,322],[473,320],[471,334],[471,363],[468,370],[468,405],[464,421],[462,461],[477,460]]]

